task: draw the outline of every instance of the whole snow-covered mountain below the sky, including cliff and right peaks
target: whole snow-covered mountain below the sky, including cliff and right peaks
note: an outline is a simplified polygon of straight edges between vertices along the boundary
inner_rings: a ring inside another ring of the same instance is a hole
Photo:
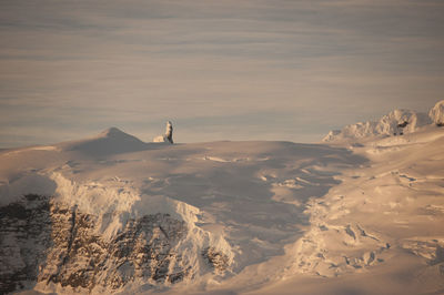
[[[444,294],[444,128],[393,114],[414,128],[322,144],[144,143],[112,128],[1,151],[0,287]],[[51,197],[47,215],[30,194]],[[32,218],[48,235],[30,235]]]

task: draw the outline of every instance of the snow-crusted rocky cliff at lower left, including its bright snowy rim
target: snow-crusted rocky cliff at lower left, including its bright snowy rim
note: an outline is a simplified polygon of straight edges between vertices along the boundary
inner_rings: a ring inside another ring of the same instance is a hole
[[[141,195],[119,179],[78,183],[53,172],[19,183],[38,184],[38,190],[49,180],[54,197],[24,194],[1,207],[1,292],[32,279],[34,289],[44,293],[141,292],[213,271],[222,275],[232,263],[223,236],[195,226],[200,211],[192,205]],[[33,237],[39,248],[31,250],[22,236],[39,224]],[[22,256],[23,251],[34,256]],[[18,274],[22,281],[14,281]]]

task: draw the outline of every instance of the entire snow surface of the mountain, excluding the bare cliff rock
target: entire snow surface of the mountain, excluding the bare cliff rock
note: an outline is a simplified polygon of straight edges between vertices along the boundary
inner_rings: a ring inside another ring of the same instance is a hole
[[[175,284],[130,277],[118,289],[46,282],[29,288],[170,294],[444,291],[444,128],[430,125],[353,145],[164,145],[134,139],[111,130],[85,141],[2,151],[1,206],[28,193],[53,195],[56,202],[95,216],[91,231],[105,242],[130,221],[169,214],[188,231],[174,240],[170,253],[180,255],[174,267],[189,267],[189,275]]]

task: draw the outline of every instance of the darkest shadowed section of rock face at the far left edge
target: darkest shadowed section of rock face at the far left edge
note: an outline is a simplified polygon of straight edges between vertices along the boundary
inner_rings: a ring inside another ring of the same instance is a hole
[[[51,246],[51,217],[47,200],[27,195],[0,207],[0,294],[36,281],[44,250]]]

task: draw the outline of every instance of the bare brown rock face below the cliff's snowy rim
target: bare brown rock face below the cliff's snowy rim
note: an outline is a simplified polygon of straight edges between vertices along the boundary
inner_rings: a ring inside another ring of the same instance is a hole
[[[186,235],[182,221],[161,213],[128,220],[108,240],[97,227],[98,216],[50,197],[27,195],[0,207],[0,294],[29,282],[118,291],[137,278],[155,286],[189,275],[173,250]]]

